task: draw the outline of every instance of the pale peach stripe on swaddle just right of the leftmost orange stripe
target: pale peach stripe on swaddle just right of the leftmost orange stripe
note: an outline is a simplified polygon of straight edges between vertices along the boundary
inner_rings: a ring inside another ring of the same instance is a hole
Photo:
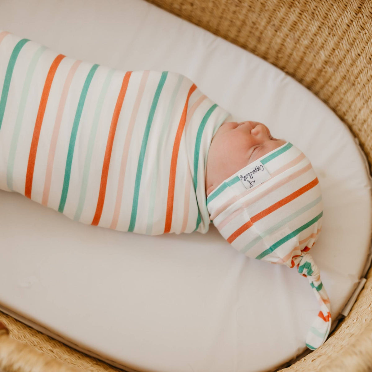
[[[50,184],[52,180],[52,169],[53,169],[53,163],[54,163],[54,155],[55,155],[55,149],[57,147],[57,140],[58,140],[58,134],[60,132],[60,126],[62,121],[62,115],[65,109],[66,99],[68,90],[70,89],[71,81],[74,77],[74,74],[80,65],[82,61],[77,60],[74,62],[74,64],[71,66],[70,71],[68,71],[66,81],[63,85],[62,94],[60,98],[60,103],[58,105],[57,115],[54,122],[54,128],[52,133],[52,138],[50,141],[49,146],[49,153],[48,153],[48,163],[47,163],[47,170],[45,173],[45,181],[44,181],[44,191],[43,191],[43,198],[42,198],[42,205],[47,206],[48,205],[48,199],[49,199],[49,191],[50,191]]]

